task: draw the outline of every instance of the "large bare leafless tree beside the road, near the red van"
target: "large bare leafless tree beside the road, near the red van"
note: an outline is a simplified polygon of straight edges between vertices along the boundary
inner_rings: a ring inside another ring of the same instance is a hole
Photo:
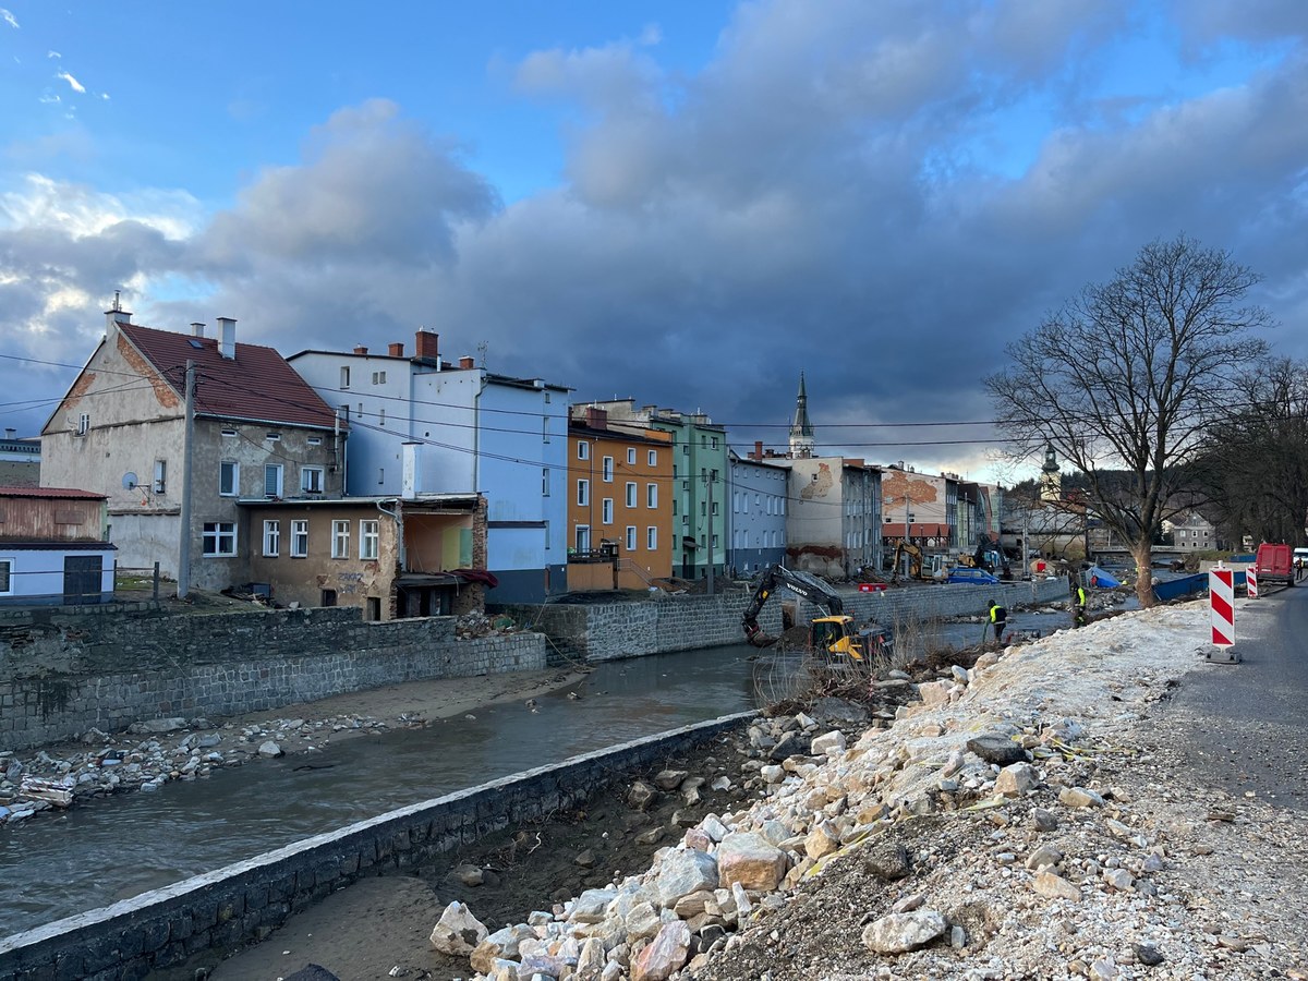
[[[1050,443],[1084,473],[1088,506],[1129,543],[1142,606],[1154,604],[1155,531],[1194,504],[1185,464],[1230,415],[1240,371],[1265,356],[1250,332],[1270,318],[1244,305],[1258,281],[1192,238],[1151,242],[1010,344],[1011,368],[986,378],[1015,454]]]

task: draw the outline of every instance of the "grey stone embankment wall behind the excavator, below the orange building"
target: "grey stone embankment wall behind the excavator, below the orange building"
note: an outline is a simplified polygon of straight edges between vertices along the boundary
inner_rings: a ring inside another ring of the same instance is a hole
[[[855,620],[876,620],[893,628],[935,617],[984,613],[994,599],[1010,610],[1025,603],[1067,599],[1066,579],[1001,582],[989,586],[952,583],[913,586],[882,593],[842,594],[845,612]],[[743,644],[740,615],[749,593],[732,589],[714,596],[658,596],[647,602],[497,607],[527,629],[543,630],[551,642],[551,661],[611,661],[675,650]],[[764,632],[781,630],[783,608],[798,607],[797,623],[818,616],[818,610],[778,590],[759,617]]]

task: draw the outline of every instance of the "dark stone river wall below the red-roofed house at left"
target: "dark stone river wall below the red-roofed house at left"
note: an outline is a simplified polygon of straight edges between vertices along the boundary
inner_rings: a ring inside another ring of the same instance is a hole
[[[545,667],[535,633],[459,640],[453,617],[365,623],[357,608],[165,615],[0,613],[0,749],[137,719],[238,715],[400,681]]]

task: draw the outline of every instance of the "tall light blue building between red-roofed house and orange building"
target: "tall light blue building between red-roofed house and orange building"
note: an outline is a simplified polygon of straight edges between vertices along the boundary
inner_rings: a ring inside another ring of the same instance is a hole
[[[568,392],[539,378],[443,361],[438,335],[386,354],[302,351],[292,368],[349,420],[345,493],[487,498],[488,602],[531,603],[566,589]]]

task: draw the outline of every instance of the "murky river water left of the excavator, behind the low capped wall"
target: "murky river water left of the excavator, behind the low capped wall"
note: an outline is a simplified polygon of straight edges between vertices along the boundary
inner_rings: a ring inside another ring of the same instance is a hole
[[[756,706],[753,647],[599,664],[577,689],[0,828],[0,937],[386,811]],[[305,769],[311,763],[313,769]]]

